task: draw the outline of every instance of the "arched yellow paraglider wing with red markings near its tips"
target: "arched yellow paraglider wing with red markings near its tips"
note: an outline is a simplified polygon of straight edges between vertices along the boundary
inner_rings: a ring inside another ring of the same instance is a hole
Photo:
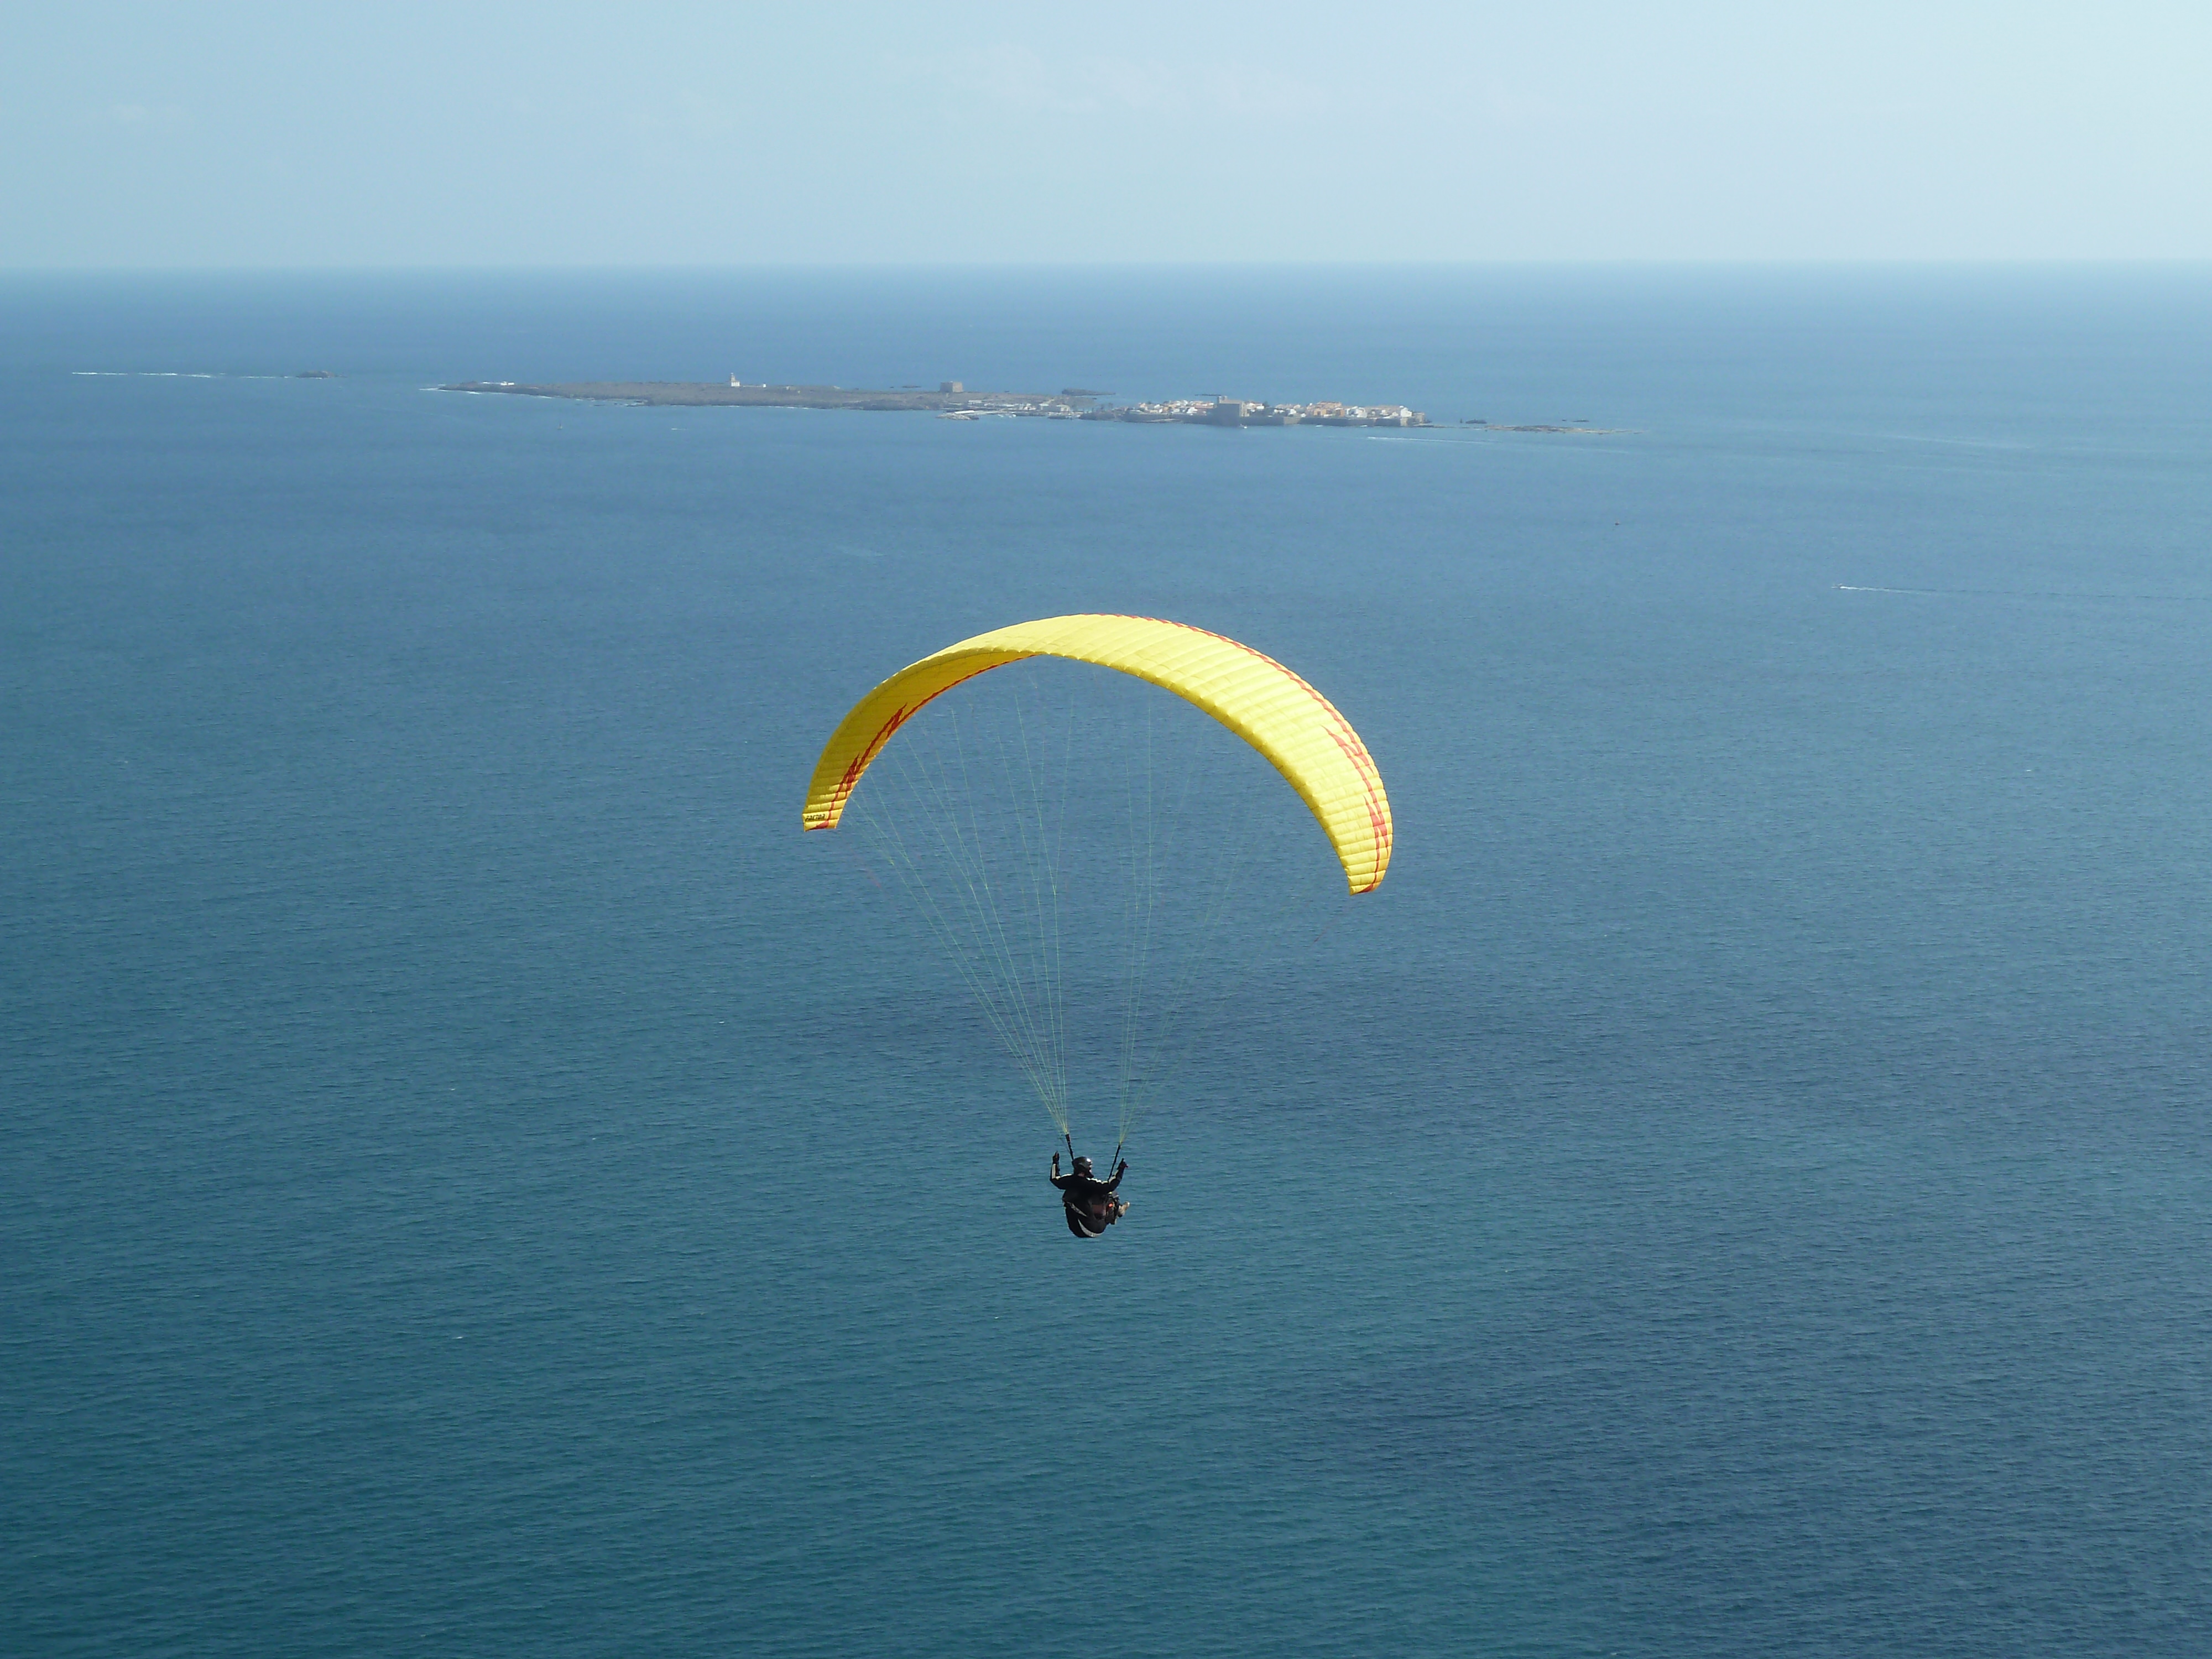
[[[1391,845],[1389,796],[1352,721],[1274,657],[1219,633],[1152,617],[1020,622],[898,670],[832,732],[807,783],[805,827],[836,827],[869,763],[925,703],[1024,657],[1068,657],[1113,668],[1206,710],[1265,754],[1312,807],[1354,894],[1374,891],[1383,880]]]

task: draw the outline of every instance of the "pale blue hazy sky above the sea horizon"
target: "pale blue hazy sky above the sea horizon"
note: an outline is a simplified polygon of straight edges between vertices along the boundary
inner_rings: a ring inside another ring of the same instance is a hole
[[[31,4],[0,265],[2212,257],[2212,4]]]

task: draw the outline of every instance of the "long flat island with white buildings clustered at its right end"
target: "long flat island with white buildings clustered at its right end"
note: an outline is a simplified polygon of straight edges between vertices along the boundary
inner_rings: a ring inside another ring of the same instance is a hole
[[[440,392],[493,392],[515,398],[582,398],[672,407],[739,409],[905,409],[947,420],[1033,416],[1046,420],[1179,422],[1192,427],[1427,427],[1429,416],[1402,403],[1252,403],[1248,398],[1181,398],[1102,407],[1104,392],[969,392],[960,380],[922,387],[852,389],[838,385],[752,385],[734,374],[719,380],[460,380]]]

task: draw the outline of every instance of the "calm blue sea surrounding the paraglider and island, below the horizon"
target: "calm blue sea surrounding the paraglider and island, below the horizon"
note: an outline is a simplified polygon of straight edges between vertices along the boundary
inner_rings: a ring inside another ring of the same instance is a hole
[[[1440,425],[429,389],[728,374]],[[2201,1652],[2205,387],[2203,268],[7,279],[0,1650]],[[799,834],[1066,611],[1398,825],[1097,1243]]]

